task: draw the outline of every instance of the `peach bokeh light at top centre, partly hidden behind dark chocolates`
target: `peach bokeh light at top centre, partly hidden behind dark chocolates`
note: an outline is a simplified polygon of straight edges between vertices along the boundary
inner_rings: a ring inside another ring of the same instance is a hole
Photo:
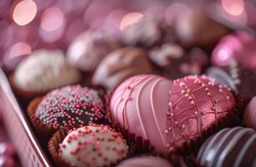
[[[143,14],[142,13],[128,13],[126,14],[121,22],[120,22],[120,30],[123,30],[124,28],[126,28],[127,26],[130,26],[133,23],[137,23],[141,20],[141,18],[143,18]]]

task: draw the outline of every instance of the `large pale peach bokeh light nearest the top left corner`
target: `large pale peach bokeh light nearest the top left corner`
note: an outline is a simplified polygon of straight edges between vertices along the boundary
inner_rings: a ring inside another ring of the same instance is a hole
[[[32,0],[19,2],[13,10],[13,20],[19,26],[26,25],[33,21],[37,14],[37,5]]]

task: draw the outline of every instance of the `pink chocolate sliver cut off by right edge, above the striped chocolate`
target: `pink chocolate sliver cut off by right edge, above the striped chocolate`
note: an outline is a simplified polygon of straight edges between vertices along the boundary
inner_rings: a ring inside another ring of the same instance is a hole
[[[243,124],[247,127],[256,129],[256,97],[254,96],[253,99],[249,102],[248,106],[246,107],[243,115]]]

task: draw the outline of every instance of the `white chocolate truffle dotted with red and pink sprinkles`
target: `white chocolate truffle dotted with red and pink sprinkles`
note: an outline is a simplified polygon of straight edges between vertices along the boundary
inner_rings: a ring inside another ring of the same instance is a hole
[[[127,154],[123,136],[106,125],[93,124],[71,131],[59,144],[60,157],[70,166],[109,166]]]

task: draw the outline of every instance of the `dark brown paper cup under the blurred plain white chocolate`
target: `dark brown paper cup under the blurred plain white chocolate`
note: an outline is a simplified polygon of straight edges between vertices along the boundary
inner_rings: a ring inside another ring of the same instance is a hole
[[[38,97],[38,96],[43,96],[47,92],[31,92],[31,91],[25,91],[23,89],[20,89],[16,83],[14,82],[13,79],[13,73],[9,75],[9,81],[11,84],[11,87],[13,88],[14,92],[18,94],[18,97],[22,99],[24,102],[28,103],[29,100]]]

